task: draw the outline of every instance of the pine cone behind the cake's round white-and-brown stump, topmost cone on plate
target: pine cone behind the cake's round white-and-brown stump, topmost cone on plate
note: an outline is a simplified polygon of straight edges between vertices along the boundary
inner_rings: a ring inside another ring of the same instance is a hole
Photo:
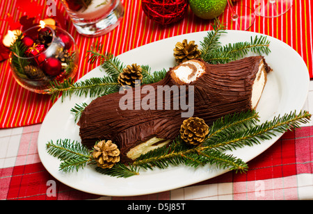
[[[183,42],[177,42],[175,45],[174,56],[178,64],[198,58],[200,54],[201,52],[198,50],[198,44],[195,44],[195,41],[188,43],[187,40],[183,40]]]

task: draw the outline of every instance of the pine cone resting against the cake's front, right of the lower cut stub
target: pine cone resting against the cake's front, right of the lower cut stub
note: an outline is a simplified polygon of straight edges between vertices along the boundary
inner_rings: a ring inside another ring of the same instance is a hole
[[[184,120],[180,127],[180,137],[191,145],[198,145],[203,142],[209,133],[209,126],[199,117],[190,117]]]

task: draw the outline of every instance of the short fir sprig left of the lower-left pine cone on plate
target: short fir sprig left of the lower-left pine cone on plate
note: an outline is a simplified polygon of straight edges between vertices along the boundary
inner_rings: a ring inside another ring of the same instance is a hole
[[[60,164],[60,170],[63,172],[79,170],[93,161],[93,156],[86,147],[79,142],[71,142],[69,139],[57,140],[56,143],[51,140],[46,148],[48,154],[63,161]]]

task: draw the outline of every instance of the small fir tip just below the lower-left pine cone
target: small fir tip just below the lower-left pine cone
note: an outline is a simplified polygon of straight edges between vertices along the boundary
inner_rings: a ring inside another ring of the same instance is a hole
[[[96,167],[97,172],[106,174],[109,176],[116,176],[118,178],[128,178],[130,176],[138,175],[139,168],[134,165],[126,166],[122,163],[116,163],[112,168],[103,169],[102,167]]]

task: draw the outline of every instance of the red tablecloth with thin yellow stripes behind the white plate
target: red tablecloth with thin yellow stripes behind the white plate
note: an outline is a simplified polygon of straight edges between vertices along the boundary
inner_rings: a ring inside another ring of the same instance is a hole
[[[6,19],[10,14],[17,22],[19,17],[27,15],[26,12],[17,9],[17,1],[22,0],[0,2],[2,19]],[[254,1],[242,0],[239,4],[252,7]],[[31,2],[36,2],[42,8],[42,13],[38,19],[47,17],[46,1]],[[74,37],[80,49],[81,58],[76,80],[97,66],[88,64],[85,58],[86,51],[90,49],[91,44],[95,44],[97,41],[104,44],[104,51],[118,56],[136,47],[164,38],[211,30],[211,22],[195,17],[190,9],[188,9],[188,13],[181,22],[169,27],[162,27],[145,16],[141,8],[141,1],[122,0],[125,6],[125,17],[120,25],[111,33],[102,37],[86,38],[75,31],[61,2],[59,0],[55,2],[61,15],[68,20],[67,31]],[[271,35],[289,44],[305,60],[311,77],[313,75],[312,4],[312,1],[309,0],[295,0],[294,6],[287,14],[273,19],[257,17],[255,24],[248,30]],[[226,8],[225,13],[220,15],[219,19],[221,22],[227,22],[228,17],[230,17],[230,10]],[[0,22],[0,40],[2,40],[9,27],[8,22]],[[227,28],[232,29],[232,26]],[[38,124],[44,120],[47,111],[52,106],[49,95],[35,94],[19,86],[10,74],[8,60],[0,63],[0,82],[0,128]]]

